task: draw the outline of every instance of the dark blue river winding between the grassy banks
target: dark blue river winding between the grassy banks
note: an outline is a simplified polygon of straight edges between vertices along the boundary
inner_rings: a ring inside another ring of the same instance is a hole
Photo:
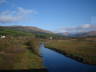
[[[58,52],[40,46],[44,66],[48,72],[96,72],[95,65],[82,64]]]

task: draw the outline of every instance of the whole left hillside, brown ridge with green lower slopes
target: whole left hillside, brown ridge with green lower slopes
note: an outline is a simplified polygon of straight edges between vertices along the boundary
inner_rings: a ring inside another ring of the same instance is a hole
[[[63,39],[64,36],[43,30],[37,27],[29,26],[0,26],[0,35],[11,36],[34,36],[37,38],[49,39]]]

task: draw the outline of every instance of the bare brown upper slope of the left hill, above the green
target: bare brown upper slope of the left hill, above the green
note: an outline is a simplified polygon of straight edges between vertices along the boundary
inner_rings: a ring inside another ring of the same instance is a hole
[[[32,33],[52,33],[51,31],[43,30],[33,26],[0,26],[0,28],[19,30],[24,32],[32,32]]]

